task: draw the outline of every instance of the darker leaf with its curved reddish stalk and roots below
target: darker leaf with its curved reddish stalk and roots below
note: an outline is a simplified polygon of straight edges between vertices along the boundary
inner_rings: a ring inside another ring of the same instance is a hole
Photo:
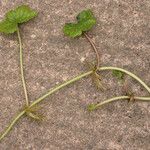
[[[98,67],[100,65],[100,56],[95,46],[95,43],[87,34],[87,31],[89,31],[96,24],[96,18],[94,17],[93,12],[90,9],[88,9],[80,12],[77,15],[76,19],[77,19],[76,23],[66,23],[63,28],[63,32],[66,36],[69,36],[71,38],[76,38],[81,35],[84,35],[87,38],[87,40],[90,42],[93,50],[95,51],[96,58],[97,58],[96,59],[97,63],[95,65],[90,63],[90,69],[93,70],[92,79],[98,89],[104,89],[100,82],[101,76],[97,73]]]

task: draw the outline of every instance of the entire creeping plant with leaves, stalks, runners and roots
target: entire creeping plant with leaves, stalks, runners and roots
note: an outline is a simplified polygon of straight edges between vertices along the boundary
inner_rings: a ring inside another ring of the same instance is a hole
[[[51,94],[54,94],[56,91],[84,78],[87,76],[92,76],[94,84],[97,88],[104,89],[101,84],[101,71],[112,71],[113,76],[117,77],[119,80],[124,79],[124,75],[129,75],[133,79],[135,79],[137,82],[139,82],[149,93],[150,88],[145,84],[139,77],[137,77],[135,74],[122,69],[118,67],[100,67],[100,56],[98,53],[98,50],[95,46],[95,43],[92,41],[92,39],[89,37],[87,31],[89,31],[95,24],[96,24],[96,18],[94,17],[91,10],[83,10],[81,13],[77,15],[77,22],[76,23],[66,23],[63,32],[65,35],[76,38],[81,35],[83,35],[88,42],[91,44],[95,54],[96,54],[96,63],[90,64],[90,70],[82,73],[80,75],[77,75],[76,77],[65,81],[64,83],[57,85],[56,87],[53,87],[48,90],[48,92],[32,103],[30,103],[28,98],[28,90],[26,88],[26,80],[24,77],[24,66],[23,66],[23,49],[22,49],[22,39],[20,34],[20,24],[27,22],[31,20],[32,18],[36,17],[38,13],[31,9],[27,5],[21,5],[17,7],[14,10],[10,10],[6,13],[4,20],[0,22],[0,32],[5,34],[14,34],[17,33],[18,37],[18,43],[19,43],[19,49],[20,49],[20,74],[21,74],[21,80],[22,80],[22,88],[24,91],[24,98],[25,98],[25,107],[19,113],[17,116],[12,120],[12,122],[9,124],[9,126],[4,130],[4,132],[0,135],[0,141],[9,133],[9,131],[13,128],[13,126],[16,124],[16,122],[23,116],[28,116],[34,120],[42,120],[43,117],[39,114],[38,110],[39,107],[37,104],[39,104],[41,101],[43,101],[46,97],[50,96]],[[89,104],[88,110],[93,111],[102,105],[118,101],[118,100],[140,100],[140,101],[150,101],[150,97],[139,97],[135,96],[134,93],[125,94],[123,96],[118,96],[114,98],[110,98],[104,102],[96,103],[96,104]]]

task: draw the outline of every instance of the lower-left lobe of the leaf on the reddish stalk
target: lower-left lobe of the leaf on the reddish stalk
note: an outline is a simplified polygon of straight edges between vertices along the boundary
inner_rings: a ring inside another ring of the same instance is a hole
[[[79,25],[74,23],[66,23],[63,28],[63,32],[65,35],[73,38],[82,34]]]

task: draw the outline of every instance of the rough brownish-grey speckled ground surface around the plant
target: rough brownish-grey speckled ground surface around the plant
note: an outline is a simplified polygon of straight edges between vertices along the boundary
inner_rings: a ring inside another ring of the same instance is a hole
[[[86,72],[95,54],[84,37],[70,39],[62,28],[84,9],[97,25],[89,32],[101,55],[101,66],[132,71],[150,83],[149,0],[1,0],[0,19],[12,8],[29,4],[38,17],[21,26],[24,67],[30,101],[67,79]],[[87,77],[46,98],[43,122],[23,117],[1,141],[1,150],[149,150],[150,103],[118,101],[97,111],[87,105],[124,95],[111,71],[100,72],[106,90]],[[137,96],[148,96],[126,77]],[[17,36],[0,35],[0,133],[23,108]]]

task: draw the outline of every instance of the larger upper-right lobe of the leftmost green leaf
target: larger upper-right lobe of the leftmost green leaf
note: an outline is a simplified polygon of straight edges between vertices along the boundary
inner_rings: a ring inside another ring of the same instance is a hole
[[[21,5],[6,13],[6,18],[13,23],[24,23],[37,16],[37,12],[27,5]]]

